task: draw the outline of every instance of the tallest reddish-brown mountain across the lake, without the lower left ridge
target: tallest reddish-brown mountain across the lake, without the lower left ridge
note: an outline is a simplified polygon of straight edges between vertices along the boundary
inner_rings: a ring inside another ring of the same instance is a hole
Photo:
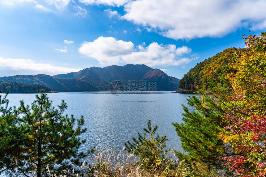
[[[157,81],[157,90],[175,90],[179,79],[170,77],[159,69],[146,65],[107,66],[104,68],[91,67],[78,72],[58,74],[54,78],[77,78],[89,82],[101,90],[108,90],[109,84],[119,80],[127,86],[128,81]]]

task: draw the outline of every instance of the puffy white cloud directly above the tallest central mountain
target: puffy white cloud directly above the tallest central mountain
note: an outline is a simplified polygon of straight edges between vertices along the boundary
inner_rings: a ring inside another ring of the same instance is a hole
[[[96,52],[97,51],[97,52]],[[95,58],[102,65],[145,64],[148,66],[184,65],[197,57],[180,57],[191,52],[191,48],[176,45],[162,45],[156,42],[145,47],[134,46],[132,42],[116,40],[113,37],[99,37],[90,43],[82,43],[79,53]]]

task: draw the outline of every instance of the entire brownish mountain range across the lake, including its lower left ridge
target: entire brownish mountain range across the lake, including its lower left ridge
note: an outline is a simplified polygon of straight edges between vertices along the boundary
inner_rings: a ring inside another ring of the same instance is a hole
[[[68,74],[49,76],[16,75],[0,77],[0,81],[24,82],[40,84],[53,91],[108,91],[109,84],[119,80],[127,86],[128,81],[157,81],[157,90],[176,90],[179,79],[170,77],[163,71],[152,69],[146,65],[107,66],[104,68],[91,67]]]

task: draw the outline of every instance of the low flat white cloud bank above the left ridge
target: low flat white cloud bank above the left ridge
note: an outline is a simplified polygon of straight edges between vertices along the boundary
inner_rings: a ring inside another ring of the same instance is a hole
[[[14,59],[0,57],[0,76],[28,75],[28,74],[63,74],[75,72],[80,69],[58,67],[50,64],[36,63],[30,59]]]

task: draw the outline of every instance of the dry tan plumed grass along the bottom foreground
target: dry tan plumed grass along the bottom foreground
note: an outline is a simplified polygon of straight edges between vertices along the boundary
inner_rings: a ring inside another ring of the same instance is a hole
[[[173,158],[165,160],[157,159],[152,168],[143,167],[144,161],[139,161],[140,157],[136,157],[131,152],[120,151],[116,153],[113,148],[104,150],[103,146],[100,149],[95,149],[95,154],[92,155],[92,162],[81,166],[81,173],[75,174],[75,171],[67,172],[66,175],[56,176],[49,172],[50,177],[186,177],[191,175],[188,165],[181,161],[178,163]],[[173,153],[171,151],[170,153]],[[82,175],[81,175],[82,174]]]

